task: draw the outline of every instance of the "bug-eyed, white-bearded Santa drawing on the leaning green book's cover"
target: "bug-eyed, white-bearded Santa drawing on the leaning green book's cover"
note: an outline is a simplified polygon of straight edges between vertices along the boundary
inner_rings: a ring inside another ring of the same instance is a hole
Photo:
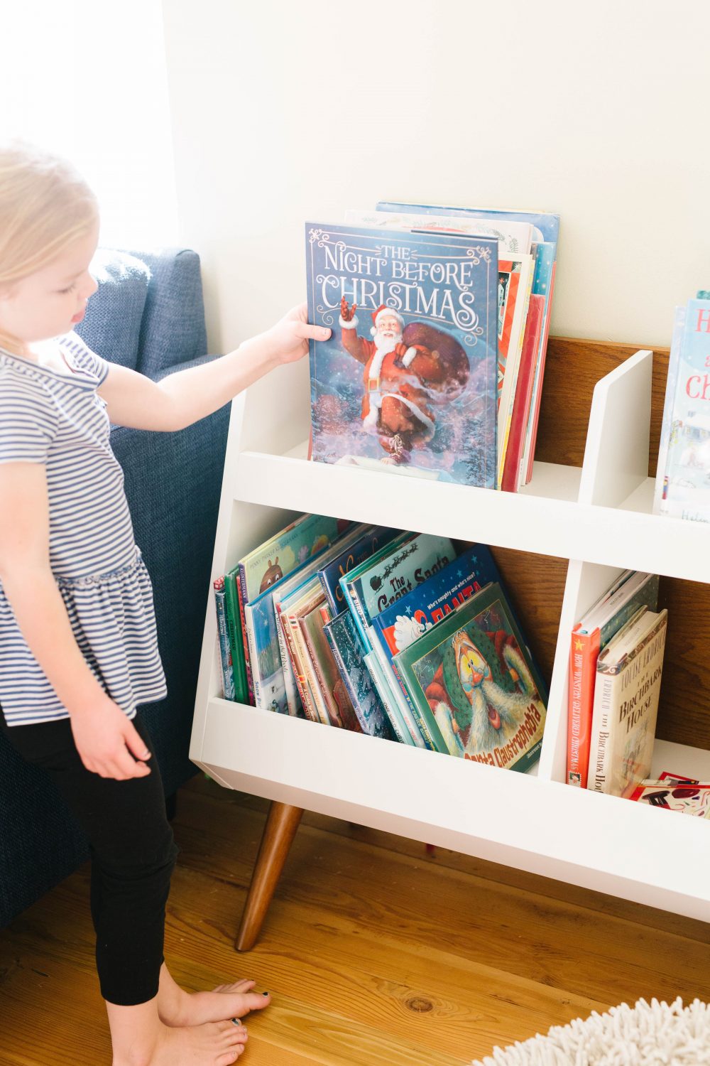
[[[519,729],[531,702],[544,710],[515,639],[476,626],[453,635],[425,694],[451,755],[492,752]]]

